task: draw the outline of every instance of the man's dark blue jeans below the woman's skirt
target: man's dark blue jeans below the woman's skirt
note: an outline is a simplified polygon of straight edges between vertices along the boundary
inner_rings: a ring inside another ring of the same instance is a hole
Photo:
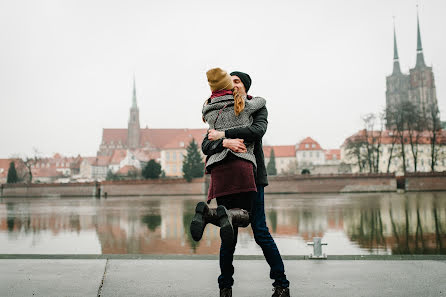
[[[264,187],[257,186],[257,192],[250,192],[249,196],[252,200],[250,212],[251,228],[256,243],[262,248],[266,262],[268,262],[271,267],[269,277],[274,280],[273,286],[288,288],[290,282],[285,276],[282,257],[280,256],[276,243],[266,226]],[[217,204],[225,205],[227,200],[229,199],[217,198]],[[243,208],[240,206],[234,207]],[[237,235],[238,228],[234,228],[234,244],[231,247],[220,246],[221,275],[218,277],[218,285],[220,288],[230,288],[234,284],[234,279],[232,278],[234,275],[234,266],[232,265],[232,262],[234,260],[235,246],[237,245]]]

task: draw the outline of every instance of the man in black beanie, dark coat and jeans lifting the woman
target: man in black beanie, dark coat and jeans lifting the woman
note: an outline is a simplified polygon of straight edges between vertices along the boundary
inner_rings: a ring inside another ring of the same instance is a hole
[[[243,72],[234,71],[231,73],[234,88],[244,95],[247,100],[248,90],[251,87],[251,77]],[[262,137],[268,126],[268,111],[266,107],[259,109],[253,114],[253,123],[249,127],[234,128],[226,131],[209,130],[203,139],[201,149],[205,155],[213,155],[228,148],[234,152],[245,152],[246,146],[244,142],[254,142],[254,155],[257,162],[256,186],[257,196],[253,201],[252,213],[250,217],[251,227],[254,233],[256,243],[262,248],[266,261],[270,270],[270,278],[274,279],[273,297],[288,297],[289,281],[285,276],[285,268],[282,257],[277,249],[276,243],[269,233],[266,226],[265,203],[264,203],[264,187],[268,185],[268,179],[265,167],[265,158],[263,156]],[[234,228],[234,243],[232,246],[220,247],[220,270],[221,275],[218,277],[220,287],[220,296],[232,296],[232,285],[234,279],[234,259],[235,246],[237,244],[237,228]]]

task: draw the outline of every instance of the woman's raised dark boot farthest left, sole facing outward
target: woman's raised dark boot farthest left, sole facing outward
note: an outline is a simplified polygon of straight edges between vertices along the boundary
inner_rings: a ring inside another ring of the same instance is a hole
[[[209,208],[205,202],[198,202],[195,207],[195,216],[190,223],[190,234],[195,241],[201,240],[204,228],[208,223],[220,226],[217,209]]]

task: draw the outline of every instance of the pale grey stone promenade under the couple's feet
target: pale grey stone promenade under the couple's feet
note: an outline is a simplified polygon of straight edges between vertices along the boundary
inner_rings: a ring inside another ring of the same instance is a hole
[[[271,296],[258,256],[234,262],[233,296]],[[285,257],[294,297],[446,296],[446,257]],[[215,256],[0,255],[0,296],[219,296]]]

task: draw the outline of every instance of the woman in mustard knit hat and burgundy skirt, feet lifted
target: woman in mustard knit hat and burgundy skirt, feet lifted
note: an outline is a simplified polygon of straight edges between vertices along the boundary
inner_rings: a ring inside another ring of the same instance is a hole
[[[255,97],[245,101],[233,90],[231,77],[222,69],[214,68],[207,73],[212,95],[205,101],[203,121],[210,129],[225,131],[252,124],[252,114],[265,106],[265,99]],[[253,197],[256,195],[254,174],[256,160],[254,144],[246,143],[246,152],[236,153],[225,149],[206,160],[206,171],[211,174],[207,202],[217,199],[217,209],[209,209],[204,202],[197,204],[191,222],[191,234],[199,241],[207,223],[220,226],[222,244],[231,245],[234,240],[233,223],[249,225]]]

